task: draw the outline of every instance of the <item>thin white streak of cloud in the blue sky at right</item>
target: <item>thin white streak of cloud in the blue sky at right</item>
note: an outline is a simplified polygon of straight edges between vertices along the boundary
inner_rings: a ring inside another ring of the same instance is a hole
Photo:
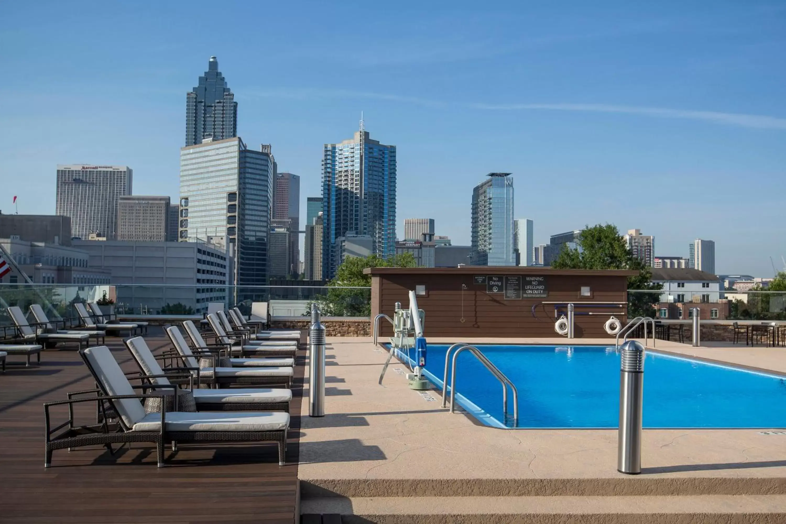
[[[745,115],[742,113],[723,113],[714,111],[689,111],[684,109],[647,108],[628,105],[608,104],[472,104],[473,108],[495,111],[579,111],[600,113],[623,113],[627,115],[648,115],[668,119],[703,120],[733,126],[755,129],[786,130],[786,119],[766,115]]]

